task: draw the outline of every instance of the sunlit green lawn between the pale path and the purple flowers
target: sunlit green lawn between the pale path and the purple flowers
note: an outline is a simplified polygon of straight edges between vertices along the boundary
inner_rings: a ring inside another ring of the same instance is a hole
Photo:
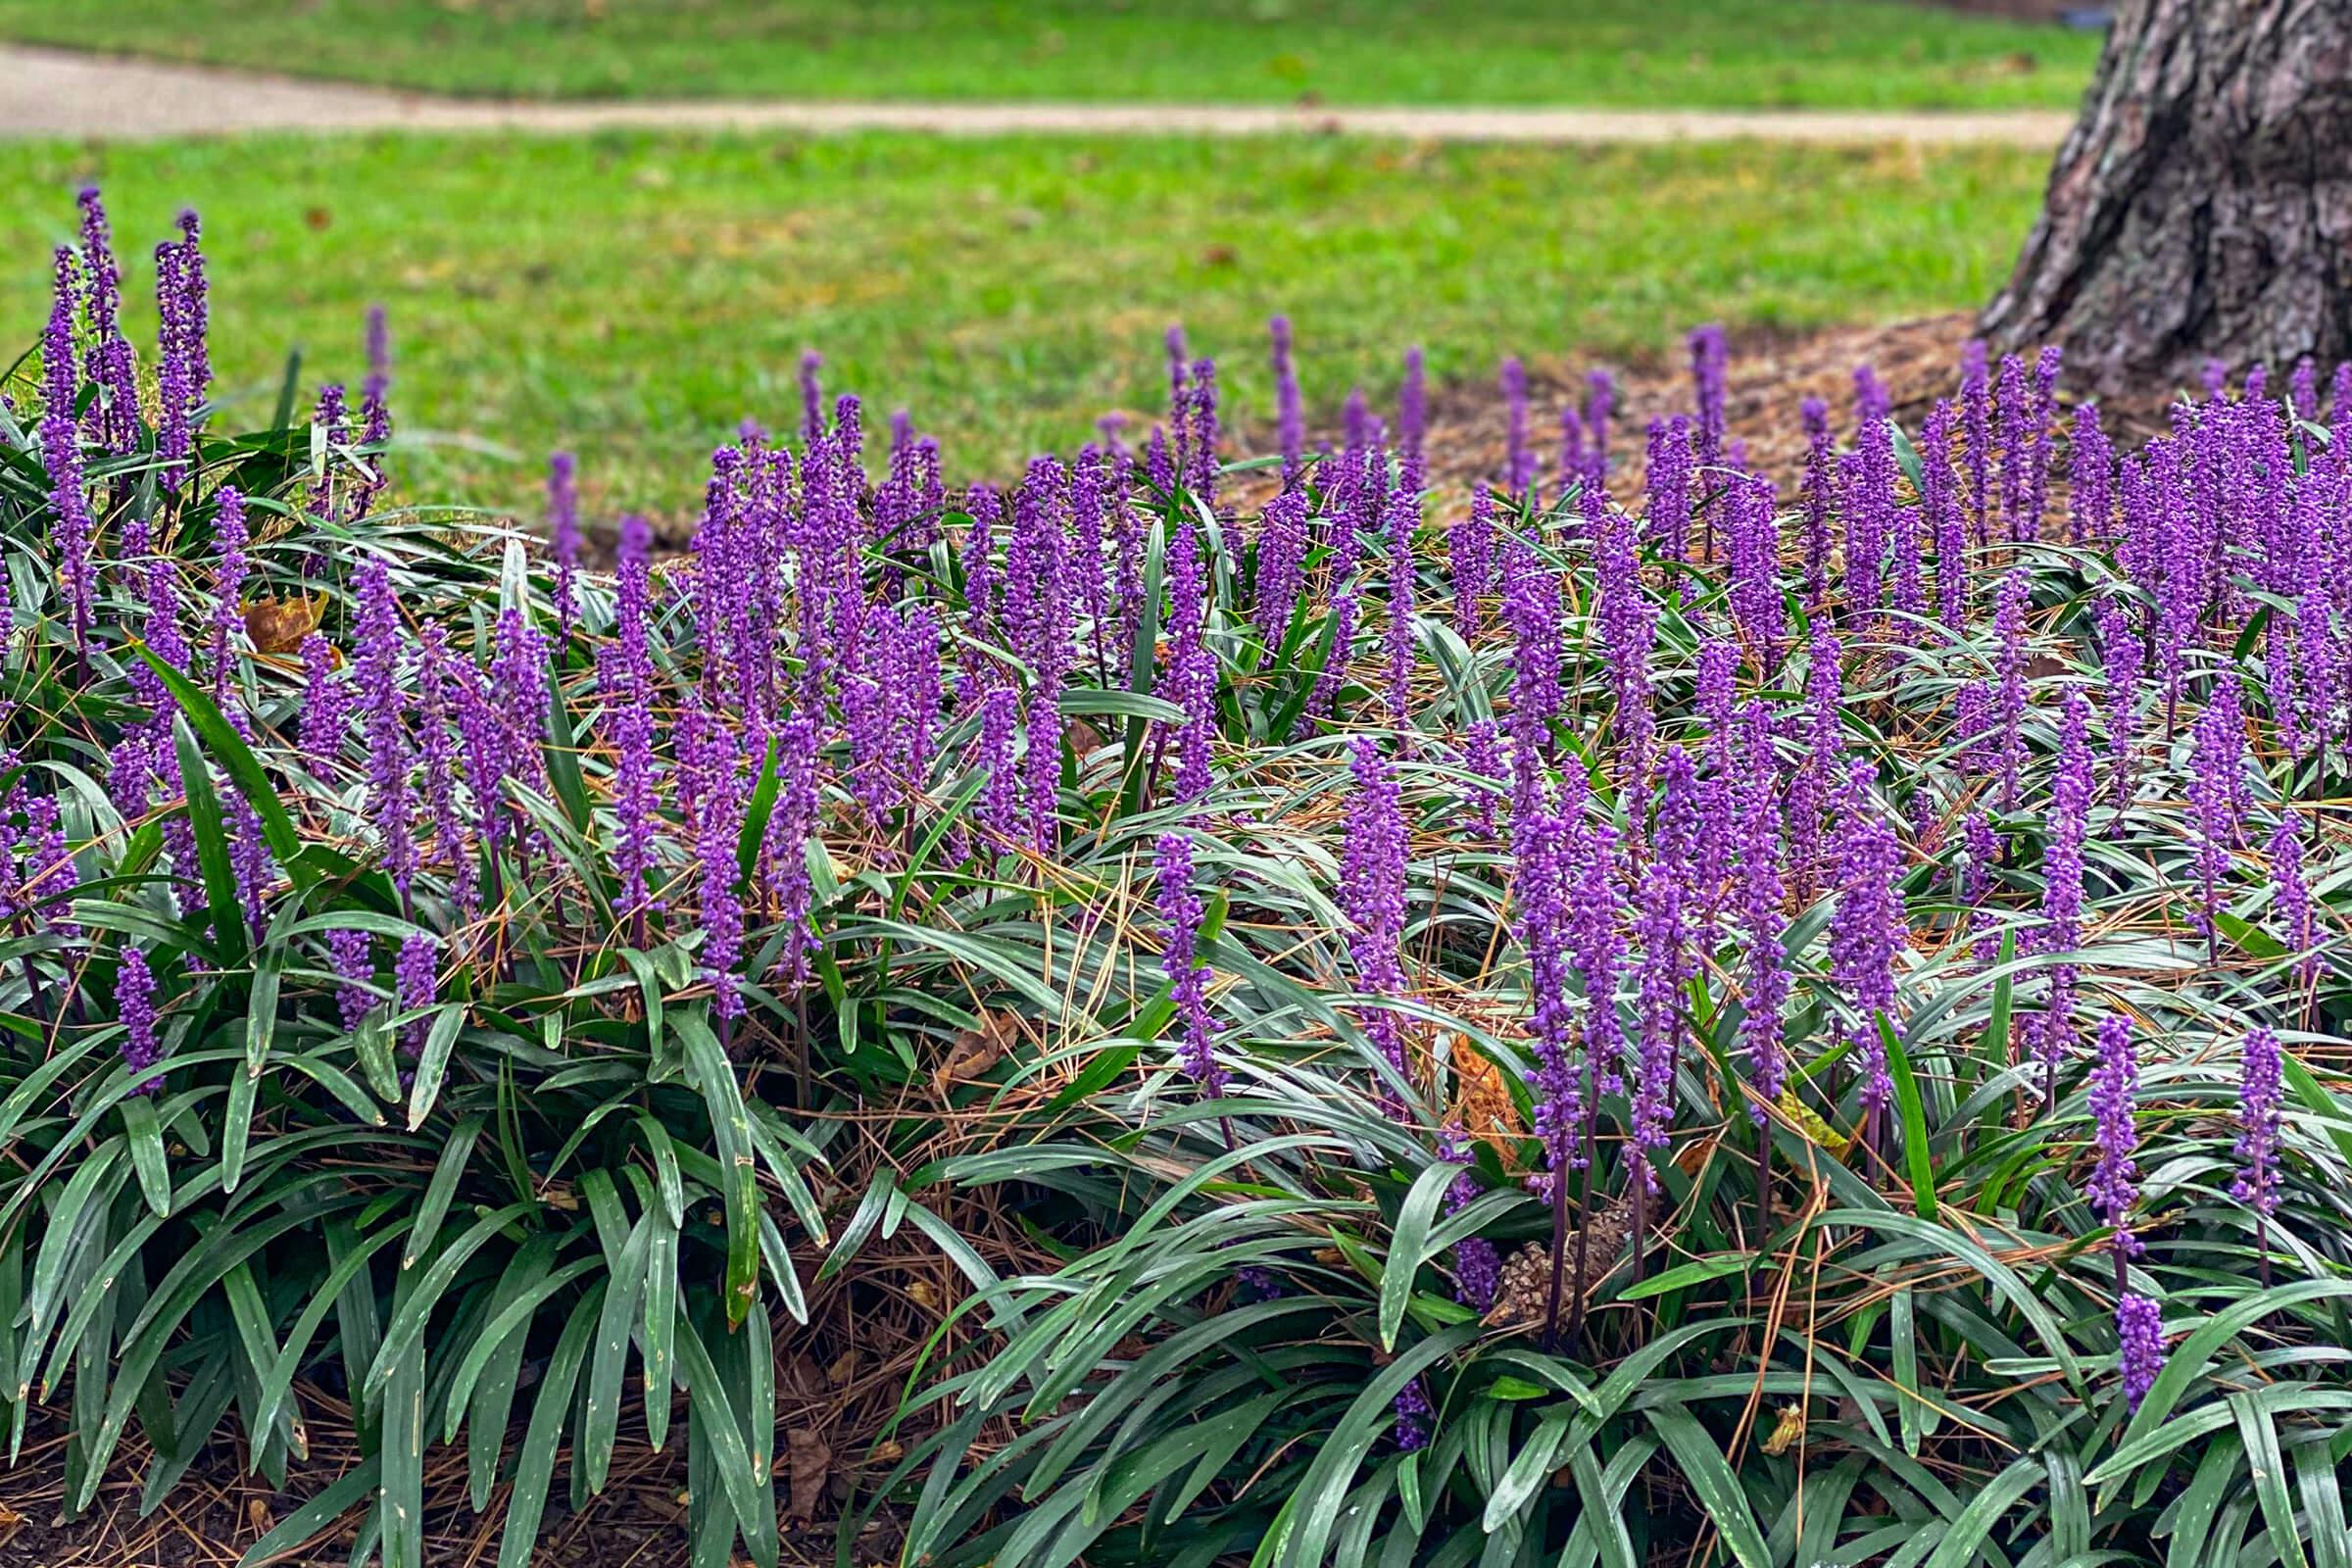
[[[1214,353],[1268,421],[1263,322],[1308,400],[1505,353],[1663,353],[1698,320],[1804,329],[1983,299],[2034,214],[2018,150],[1479,148],[1341,139],[270,139],[0,146],[0,322],[33,343],[52,244],[99,181],[151,299],[151,247],[205,214],[221,395],[268,416],[360,376],[390,310],[407,491],[534,505],[553,447],[600,508],[682,517],[743,416],[790,425],[802,348],[953,473],[1016,473],[1105,409],[1164,400],[1160,334]],[[148,306],[151,310],[151,306]],[[151,317],[139,324],[151,331]]]

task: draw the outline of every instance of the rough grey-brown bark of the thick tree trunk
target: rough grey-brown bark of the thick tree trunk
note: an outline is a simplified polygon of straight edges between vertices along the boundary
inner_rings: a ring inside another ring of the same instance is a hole
[[[2352,0],[2124,0],[1980,329],[2103,393],[2352,357]]]

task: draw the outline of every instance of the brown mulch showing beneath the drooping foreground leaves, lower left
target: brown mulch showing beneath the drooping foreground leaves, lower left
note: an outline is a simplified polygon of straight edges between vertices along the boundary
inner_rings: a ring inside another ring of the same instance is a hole
[[[955,1063],[941,1072],[938,1084],[906,1091],[917,1098],[929,1093],[934,1117],[946,1110],[941,1100],[960,1077]],[[1004,1091],[1002,1098],[1018,1110],[1030,1095],[1044,1098],[1058,1088],[1061,1081],[1044,1077],[1021,1093]],[[884,1159],[882,1135],[903,1121],[906,1105],[877,1103],[849,1117],[858,1126],[837,1152],[837,1199],[863,1192],[873,1161]],[[964,1140],[985,1135],[988,1121],[981,1112],[948,1112],[946,1131],[929,1145],[901,1152],[901,1159],[922,1164],[931,1154],[964,1147]],[[941,1215],[1000,1274],[1040,1265],[1000,1197],[934,1194],[931,1201],[946,1204]],[[891,1443],[877,1450],[875,1436],[896,1415],[908,1380],[922,1368],[936,1375],[978,1338],[978,1328],[967,1324],[941,1333],[969,1284],[915,1225],[891,1239],[870,1239],[856,1267],[821,1284],[809,1279],[814,1258],[816,1253],[804,1258],[802,1274],[809,1324],[776,1316],[776,1505],[783,1514],[783,1561],[793,1568],[835,1563],[844,1505],[854,1497],[866,1509],[901,1453]],[[94,1505],[78,1519],[61,1519],[64,1406],[35,1410],[14,1467],[0,1448],[0,1568],[233,1568],[261,1535],[358,1458],[348,1403],[315,1382],[299,1382],[296,1394],[310,1458],[287,1474],[285,1488],[245,1474],[242,1443],[223,1436],[146,1519],[139,1516],[139,1500],[151,1450],[136,1434],[122,1439]],[[529,1394],[517,1403],[527,1410]],[[569,1455],[557,1455],[539,1549],[532,1554],[534,1568],[684,1568],[684,1399],[673,1396],[668,1446],[656,1453],[647,1443],[642,1385],[633,1378],[607,1488],[579,1512],[567,1507]],[[917,1413],[898,1427],[898,1439],[917,1441],[931,1429],[929,1422],[929,1413]],[[520,1441],[520,1422],[510,1441]],[[492,1509],[475,1514],[468,1505],[463,1446],[428,1448],[423,1561],[433,1568],[496,1563],[503,1505],[501,1488]],[[306,1549],[275,1561],[341,1568],[350,1559],[360,1514],[346,1516]],[[896,1563],[898,1540],[896,1514],[884,1509],[856,1535],[851,1568]]]

